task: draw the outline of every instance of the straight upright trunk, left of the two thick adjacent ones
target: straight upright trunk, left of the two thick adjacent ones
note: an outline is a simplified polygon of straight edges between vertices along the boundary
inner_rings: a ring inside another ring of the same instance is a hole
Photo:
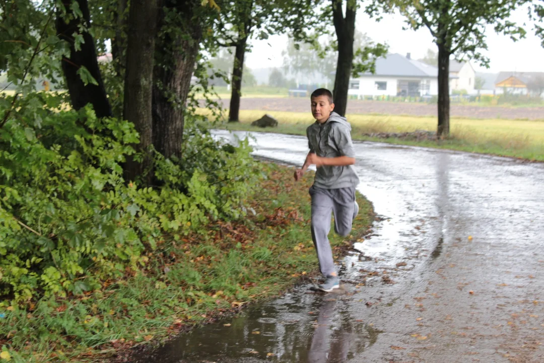
[[[144,152],[144,161],[137,162],[132,157],[125,164],[125,179],[135,180],[151,166],[147,150],[153,142],[152,93],[153,56],[157,33],[157,1],[131,0],[128,15],[127,68],[125,76],[125,101],[123,117],[133,122],[140,134],[136,149]],[[145,182],[151,181],[152,174]]]

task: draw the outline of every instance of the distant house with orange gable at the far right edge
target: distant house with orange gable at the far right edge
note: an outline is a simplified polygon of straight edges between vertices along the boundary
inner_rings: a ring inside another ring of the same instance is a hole
[[[544,72],[499,72],[497,94],[544,96]]]

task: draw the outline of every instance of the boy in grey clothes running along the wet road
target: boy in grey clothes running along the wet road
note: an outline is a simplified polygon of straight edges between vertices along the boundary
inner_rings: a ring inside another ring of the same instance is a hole
[[[359,211],[355,201],[355,187],[359,178],[351,166],[355,164],[351,126],[344,117],[333,112],[335,104],[331,92],[324,88],[316,89],[311,102],[316,122],[306,129],[310,152],[302,168],[295,170],[295,180],[298,181],[310,165],[316,165],[316,176],[310,188],[312,239],[319,269],[326,278],[319,288],[330,292],[340,287],[328,238],[331,212],[335,213],[335,232],[342,236],[349,235],[351,223]]]

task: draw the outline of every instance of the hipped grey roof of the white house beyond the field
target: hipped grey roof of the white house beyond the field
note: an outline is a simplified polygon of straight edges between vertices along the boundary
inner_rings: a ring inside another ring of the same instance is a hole
[[[361,76],[401,76],[401,77],[437,77],[438,68],[415,59],[408,59],[401,54],[387,54],[385,58],[376,59],[374,75],[365,72]]]

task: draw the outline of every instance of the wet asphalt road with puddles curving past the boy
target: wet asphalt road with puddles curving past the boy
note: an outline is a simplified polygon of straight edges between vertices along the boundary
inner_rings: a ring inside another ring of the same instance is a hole
[[[255,155],[304,161],[305,138],[255,136]],[[544,362],[544,164],[355,149],[358,190],[382,220],[341,261],[340,291],[299,286],[138,361]]]

